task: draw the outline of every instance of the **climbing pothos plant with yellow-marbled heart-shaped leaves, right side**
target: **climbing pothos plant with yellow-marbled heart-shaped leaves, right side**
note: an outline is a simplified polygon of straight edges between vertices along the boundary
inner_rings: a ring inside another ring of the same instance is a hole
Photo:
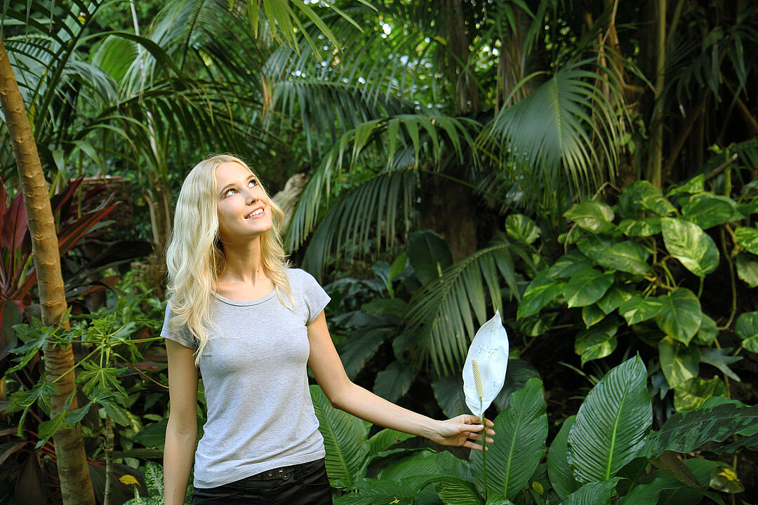
[[[725,169],[722,177],[753,166],[750,157],[741,160],[745,165]],[[516,326],[525,333],[535,326],[544,332],[574,317],[569,331],[576,332],[582,365],[612,354],[622,335],[633,337],[632,349],[652,346],[665,377],[660,392],[674,391],[677,410],[725,394],[729,379],[739,381],[729,366],[741,360],[742,349],[756,349],[751,338],[758,332],[753,313],[743,313],[739,348],[719,343],[720,332],[732,328],[740,310],[738,279],[758,285],[752,273],[758,264],[753,245],[758,232],[741,226],[750,222],[756,205],[747,187],[736,199],[731,196],[731,188],[724,189],[719,180],[706,182],[702,174],[672,186],[666,196],[637,181],[621,192],[614,207],[601,201],[573,205],[565,213],[573,223],[564,235],[567,252],[531,280]],[[731,291],[731,303],[706,298],[714,289]],[[556,320],[556,309],[563,306],[569,310]],[[722,312],[722,307],[729,307],[727,316],[714,320],[707,313]],[[701,377],[701,363],[724,379]]]

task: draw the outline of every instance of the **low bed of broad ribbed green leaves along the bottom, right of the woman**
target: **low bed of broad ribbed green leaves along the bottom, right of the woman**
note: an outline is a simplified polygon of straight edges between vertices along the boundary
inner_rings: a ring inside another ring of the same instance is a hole
[[[647,369],[633,357],[611,369],[563,422],[550,445],[547,463],[547,415],[542,383],[531,379],[515,391],[509,406],[495,418],[496,441],[488,451],[490,475],[484,487],[481,451],[469,461],[448,452],[396,449],[375,479],[363,478],[365,428],[359,419],[330,409],[323,393],[312,389],[327,443],[332,485],[346,488],[338,505],[357,503],[698,503],[703,496],[724,503],[717,493],[726,463],[703,458],[697,451],[708,441],[731,444],[713,448],[721,454],[756,447],[758,407],[712,398],[702,407],[677,413],[653,430],[647,392]],[[339,422],[331,421],[333,416]],[[377,436],[377,435],[375,435]],[[356,443],[356,438],[359,442]],[[696,451],[696,457],[685,454]],[[649,463],[660,468],[645,471]],[[345,473],[347,471],[347,473]],[[731,472],[731,473],[730,473]],[[349,476],[345,479],[345,475]],[[345,485],[349,482],[349,485]],[[431,492],[431,491],[434,492]],[[675,501],[669,501],[675,500]]]

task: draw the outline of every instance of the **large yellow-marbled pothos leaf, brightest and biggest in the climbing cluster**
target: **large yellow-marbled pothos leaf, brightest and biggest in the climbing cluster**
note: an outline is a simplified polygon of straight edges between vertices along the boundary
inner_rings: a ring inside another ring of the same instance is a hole
[[[719,267],[716,242],[697,224],[666,217],[662,220],[663,243],[673,257],[698,277]]]

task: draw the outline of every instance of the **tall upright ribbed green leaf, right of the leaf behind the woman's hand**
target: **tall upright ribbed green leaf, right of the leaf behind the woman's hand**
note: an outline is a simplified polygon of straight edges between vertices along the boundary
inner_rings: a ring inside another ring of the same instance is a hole
[[[639,356],[611,369],[587,394],[568,434],[579,483],[606,481],[637,456],[653,422],[647,369]]]

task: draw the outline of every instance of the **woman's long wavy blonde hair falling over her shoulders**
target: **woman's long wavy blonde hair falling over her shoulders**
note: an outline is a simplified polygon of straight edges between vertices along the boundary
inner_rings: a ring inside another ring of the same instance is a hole
[[[175,314],[169,324],[174,331],[186,327],[196,338],[196,366],[211,340],[214,328],[211,303],[215,299],[216,281],[224,270],[224,250],[218,235],[216,168],[229,162],[253,173],[244,161],[229,154],[208,157],[189,171],[179,192],[174,230],[166,248],[168,304]],[[281,303],[292,308],[294,301],[286,272],[290,265],[279,233],[284,213],[270,197],[268,201],[273,226],[261,235],[261,264]]]

